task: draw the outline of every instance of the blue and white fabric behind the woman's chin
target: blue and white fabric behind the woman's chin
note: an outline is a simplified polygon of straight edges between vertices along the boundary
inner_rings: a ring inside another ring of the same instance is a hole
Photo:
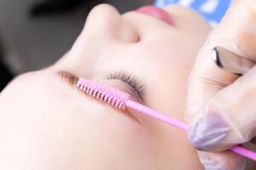
[[[214,26],[223,18],[231,0],[155,0],[154,6],[165,7],[172,3],[193,8]]]

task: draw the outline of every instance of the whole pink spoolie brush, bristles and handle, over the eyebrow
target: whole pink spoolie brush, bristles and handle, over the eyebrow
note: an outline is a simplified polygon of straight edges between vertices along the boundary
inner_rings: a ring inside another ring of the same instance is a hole
[[[109,105],[113,105],[120,110],[125,110],[127,107],[144,115],[151,116],[160,122],[166,122],[169,125],[178,127],[184,131],[187,131],[188,129],[188,125],[185,122],[181,122],[170,116],[166,116],[159,111],[154,111],[145,105],[132,101],[129,94],[121,92],[118,89],[110,88],[99,82],[93,82],[82,77],[79,77],[77,88],[84,91],[85,94],[89,94],[96,99],[100,99],[103,102],[106,102]],[[253,161],[256,161],[256,152],[253,150],[247,150],[241,145],[236,145],[230,150],[238,155],[245,156],[249,159],[252,159]]]

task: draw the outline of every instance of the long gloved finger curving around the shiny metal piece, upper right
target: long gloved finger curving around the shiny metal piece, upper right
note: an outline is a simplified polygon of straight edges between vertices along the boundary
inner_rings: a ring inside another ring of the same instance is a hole
[[[256,43],[253,42],[256,42],[256,0],[236,0],[219,26],[211,32],[195,60],[185,112],[188,122],[212,95],[237,78],[237,75],[215,65],[211,58],[212,48],[226,48],[244,59],[256,61]]]

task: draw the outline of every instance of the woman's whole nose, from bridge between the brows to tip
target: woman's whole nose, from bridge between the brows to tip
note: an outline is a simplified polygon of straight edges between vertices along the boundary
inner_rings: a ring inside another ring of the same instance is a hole
[[[99,5],[90,12],[82,33],[57,67],[89,77],[96,68],[106,66],[106,57],[116,56],[121,47],[137,42],[135,27],[109,5]],[[128,42],[128,43],[127,43]]]

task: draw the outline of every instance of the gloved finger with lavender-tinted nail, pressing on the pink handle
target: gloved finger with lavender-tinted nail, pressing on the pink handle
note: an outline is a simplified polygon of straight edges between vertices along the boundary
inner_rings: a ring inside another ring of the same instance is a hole
[[[189,128],[198,150],[226,150],[256,136],[256,66],[214,95]]]

